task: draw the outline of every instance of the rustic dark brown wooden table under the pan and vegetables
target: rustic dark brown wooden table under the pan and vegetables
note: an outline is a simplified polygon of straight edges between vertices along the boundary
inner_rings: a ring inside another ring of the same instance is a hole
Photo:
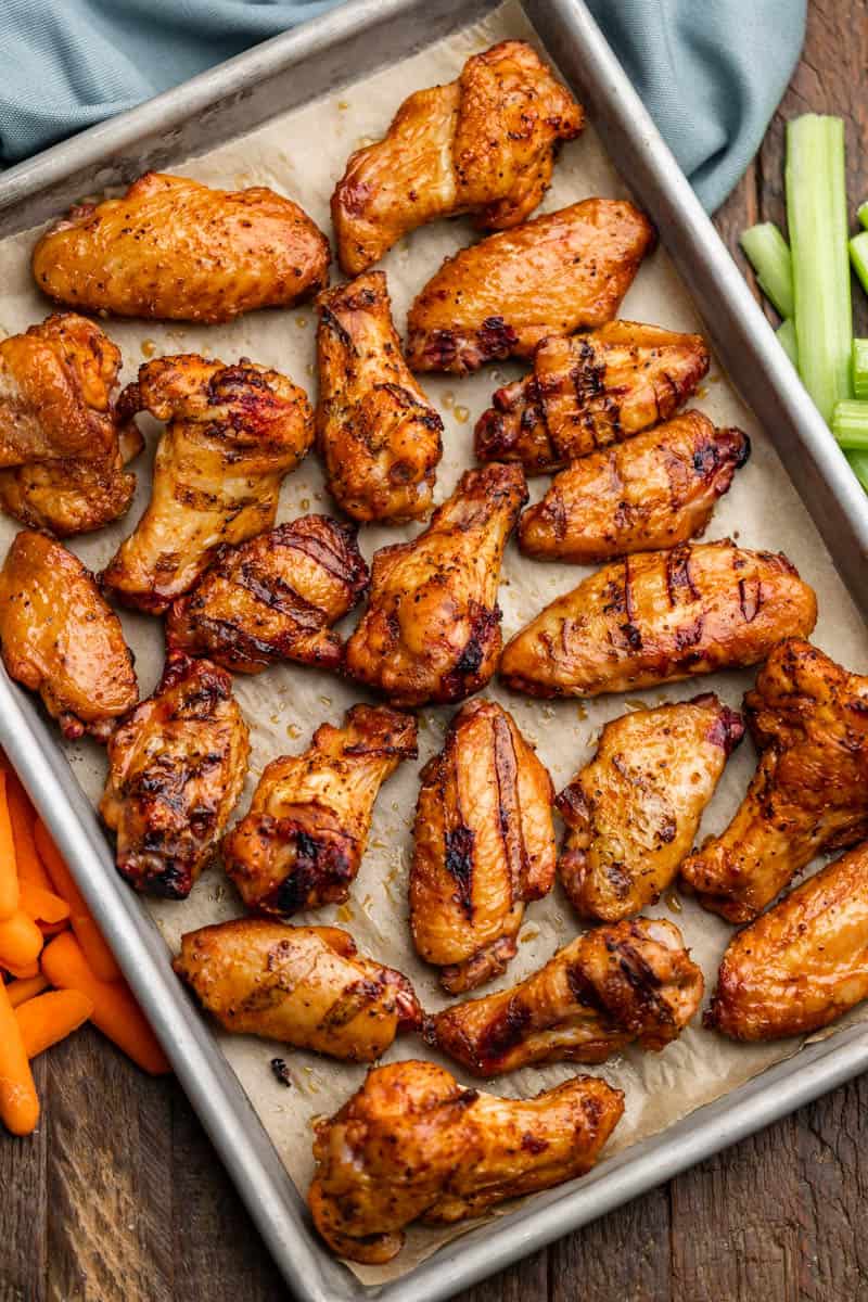
[[[761,0],[755,0],[761,3]],[[843,115],[868,197],[868,0],[812,0],[799,68],[717,227],[782,220],[783,121]],[[859,333],[868,314],[856,294]],[[0,1138],[0,1302],[272,1302],[277,1271],[174,1081],[90,1030],[35,1065],[44,1121]],[[461,1302],[858,1302],[868,1297],[868,1078],[837,1090]]]

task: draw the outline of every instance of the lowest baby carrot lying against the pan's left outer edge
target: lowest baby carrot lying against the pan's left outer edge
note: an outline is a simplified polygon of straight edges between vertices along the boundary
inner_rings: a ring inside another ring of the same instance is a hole
[[[151,1075],[172,1068],[125,982],[99,980],[72,931],[46,945],[42,970],[59,990],[78,990],[94,1004],[91,1021]]]

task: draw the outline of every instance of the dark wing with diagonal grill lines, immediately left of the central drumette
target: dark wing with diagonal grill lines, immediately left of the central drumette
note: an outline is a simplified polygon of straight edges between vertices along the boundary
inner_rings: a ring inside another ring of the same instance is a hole
[[[169,607],[167,643],[236,673],[277,660],[337,669],[344,643],[332,625],[368,583],[355,534],[328,516],[302,516],[221,547],[193,591]]]

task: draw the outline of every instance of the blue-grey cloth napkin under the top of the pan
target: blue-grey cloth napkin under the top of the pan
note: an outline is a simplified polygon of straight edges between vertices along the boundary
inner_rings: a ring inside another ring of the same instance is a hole
[[[336,0],[0,0],[0,160],[131,108]],[[590,0],[709,211],[756,152],[806,0]]]

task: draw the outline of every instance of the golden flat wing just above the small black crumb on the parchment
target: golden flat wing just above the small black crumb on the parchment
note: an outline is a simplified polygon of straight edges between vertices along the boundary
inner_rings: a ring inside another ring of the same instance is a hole
[[[373,1062],[422,1013],[406,976],[337,927],[236,918],[189,931],[172,963],[225,1031]]]

